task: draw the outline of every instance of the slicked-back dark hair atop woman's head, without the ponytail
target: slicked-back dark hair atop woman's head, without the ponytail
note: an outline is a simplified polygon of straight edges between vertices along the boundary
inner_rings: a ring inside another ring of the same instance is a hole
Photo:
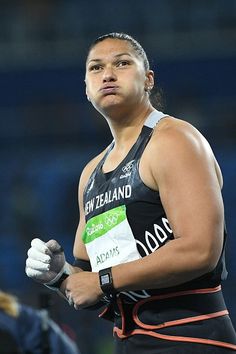
[[[145,50],[143,49],[143,47],[141,46],[141,44],[136,41],[136,39],[134,39],[132,36],[130,36],[129,34],[126,33],[118,33],[118,32],[111,32],[108,34],[104,34],[100,37],[98,37],[97,39],[95,39],[95,41],[92,42],[92,44],[89,47],[88,53],[91,51],[91,49],[99,42],[104,41],[105,39],[108,38],[112,38],[112,39],[120,39],[122,41],[127,41],[131,44],[131,46],[133,47],[133,49],[135,50],[136,54],[142,58],[143,60],[143,65],[144,65],[144,69],[145,70],[149,70],[150,65],[149,65],[149,61],[147,58],[147,54],[145,53]]]

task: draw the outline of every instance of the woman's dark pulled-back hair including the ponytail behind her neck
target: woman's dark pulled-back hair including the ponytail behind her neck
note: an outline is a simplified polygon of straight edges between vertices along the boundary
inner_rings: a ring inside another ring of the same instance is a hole
[[[88,49],[88,54],[90,53],[91,49],[97,44],[100,43],[106,39],[120,39],[122,41],[127,41],[130,43],[136,54],[143,60],[143,66],[145,70],[150,69],[150,64],[149,60],[147,58],[147,54],[141,44],[134,39],[132,36],[129,34],[123,33],[123,32],[111,32],[104,34],[102,36],[99,36],[97,39],[95,39],[92,44],[90,45]],[[157,109],[163,109],[163,100],[162,100],[162,90],[159,87],[154,87],[152,91],[150,92],[150,101],[152,105],[157,108]]]

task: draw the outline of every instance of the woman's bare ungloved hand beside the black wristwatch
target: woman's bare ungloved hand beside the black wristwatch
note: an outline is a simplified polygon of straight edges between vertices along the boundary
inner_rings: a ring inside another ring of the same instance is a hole
[[[70,275],[63,282],[63,291],[76,310],[92,306],[104,296],[98,273],[94,272],[83,271]]]

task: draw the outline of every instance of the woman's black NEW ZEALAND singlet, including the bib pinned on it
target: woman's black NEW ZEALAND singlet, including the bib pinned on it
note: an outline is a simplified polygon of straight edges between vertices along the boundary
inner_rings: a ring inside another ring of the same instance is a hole
[[[82,239],[92,271],[136,260],[154,251],[158,257],[158,249],[174,238],[159,193],[147,187],[139,175],[143,151],[154,127],[165,116],[153,111],[124,160],[104,174],[102,167],[112,143],[89,178],[84,191],[86,227]],[[121,296],[125,302],[136,302],[166,292],[216,287],[226,274],[223,250],[216,268],[208,274],[172,288],[122,292]]]

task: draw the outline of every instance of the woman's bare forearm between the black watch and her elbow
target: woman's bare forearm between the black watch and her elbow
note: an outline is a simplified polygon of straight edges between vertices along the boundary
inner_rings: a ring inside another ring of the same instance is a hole
[[[176,286],[209,272],[209,260],[203,249],[178,238],[144,258],[112,267],[114,287],[128,291]]]

